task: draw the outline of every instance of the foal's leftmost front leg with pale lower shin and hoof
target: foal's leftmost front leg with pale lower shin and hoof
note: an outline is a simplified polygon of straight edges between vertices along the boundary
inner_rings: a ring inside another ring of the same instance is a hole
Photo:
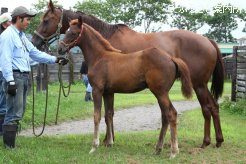
[[[102,94],[97,92],[96,88],[93,88],[93,100],[94,100],[94,139],[90,153],[96,151],[99,146],[99,125],[101,120],[101,108],[102,108]]]

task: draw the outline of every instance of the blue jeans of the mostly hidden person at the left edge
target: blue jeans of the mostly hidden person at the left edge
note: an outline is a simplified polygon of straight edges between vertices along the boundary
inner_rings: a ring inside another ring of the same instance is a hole
[[[2,72],[0,71],[0,115],[4,116],[6,113],[6,94],[4,90],[4,77]]]

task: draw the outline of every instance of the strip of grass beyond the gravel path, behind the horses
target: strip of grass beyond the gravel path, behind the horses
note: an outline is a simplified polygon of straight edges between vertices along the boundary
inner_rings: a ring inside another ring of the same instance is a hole
[[[230,95],[231,83],[225,83],[224,96]],[[185,100],[180,92],[180,82],[176,81],[170,91],[170,99],[172,101]],[[65,98],[61,97],[60,110],[58,115],[58,123],[68,120],[84,119],[93,116],[93,103],[84,101],[85,87],[79,81],[71,87],[70,95]],[[49,85],[48,109],[47,109],[47,124],[52,125],[55,123],[57,102],[59,95],[59,84],[52,83]],[[196,99],[193,94],[193,100]],[[35,96],[35,125],[41,126],[43,123],[44,110],[45,110],[45,93],[38,93]],[[135,94],[115,94],[115,110],[130,108],[134,106],[143,106],[156,104],[156,98],[148,90],[143,90]],[[27,108],[25,116],[22,120],[22,127],[24,129],[31,127],[32,120],[32,96],[30,95],[27,100]]]

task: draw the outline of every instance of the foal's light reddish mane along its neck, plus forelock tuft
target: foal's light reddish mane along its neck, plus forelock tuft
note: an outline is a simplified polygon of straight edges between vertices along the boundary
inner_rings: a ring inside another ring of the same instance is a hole
[[[70,22],[70,26],[71,25],[78,25],[78,19],[72,20]],[[86,23],[83,23],[83,26],[85,26],[89,31],[91,31],[94,36],[103,44],[103,46],[105,47],[106,50],[109,51],[114,51],[114,52],[121,52],[121,50],[118,50],[116,48],[114,48],[109,41],[107,41],[98,31],[96,31],[94,28],[92,28],[91,26],[89,26]]]

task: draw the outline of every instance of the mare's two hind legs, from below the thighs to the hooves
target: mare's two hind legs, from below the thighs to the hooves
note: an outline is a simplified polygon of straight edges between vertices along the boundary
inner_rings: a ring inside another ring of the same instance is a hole
[[[224,139],[223,139],[221,125],[220,125],[219,106],[217,102],[215,102],[214,98],[212,97],[206,85],[201,87],[196,87],[194,88],[194,90],[201,104],[203,117],[205,119],[204,139],[201,147],[205,148],[211,142],[211,138],[210,138],[211,115],[213,117],[214,128],[216,133],[216,141],[217,141],[216,146],[220,147]]]

